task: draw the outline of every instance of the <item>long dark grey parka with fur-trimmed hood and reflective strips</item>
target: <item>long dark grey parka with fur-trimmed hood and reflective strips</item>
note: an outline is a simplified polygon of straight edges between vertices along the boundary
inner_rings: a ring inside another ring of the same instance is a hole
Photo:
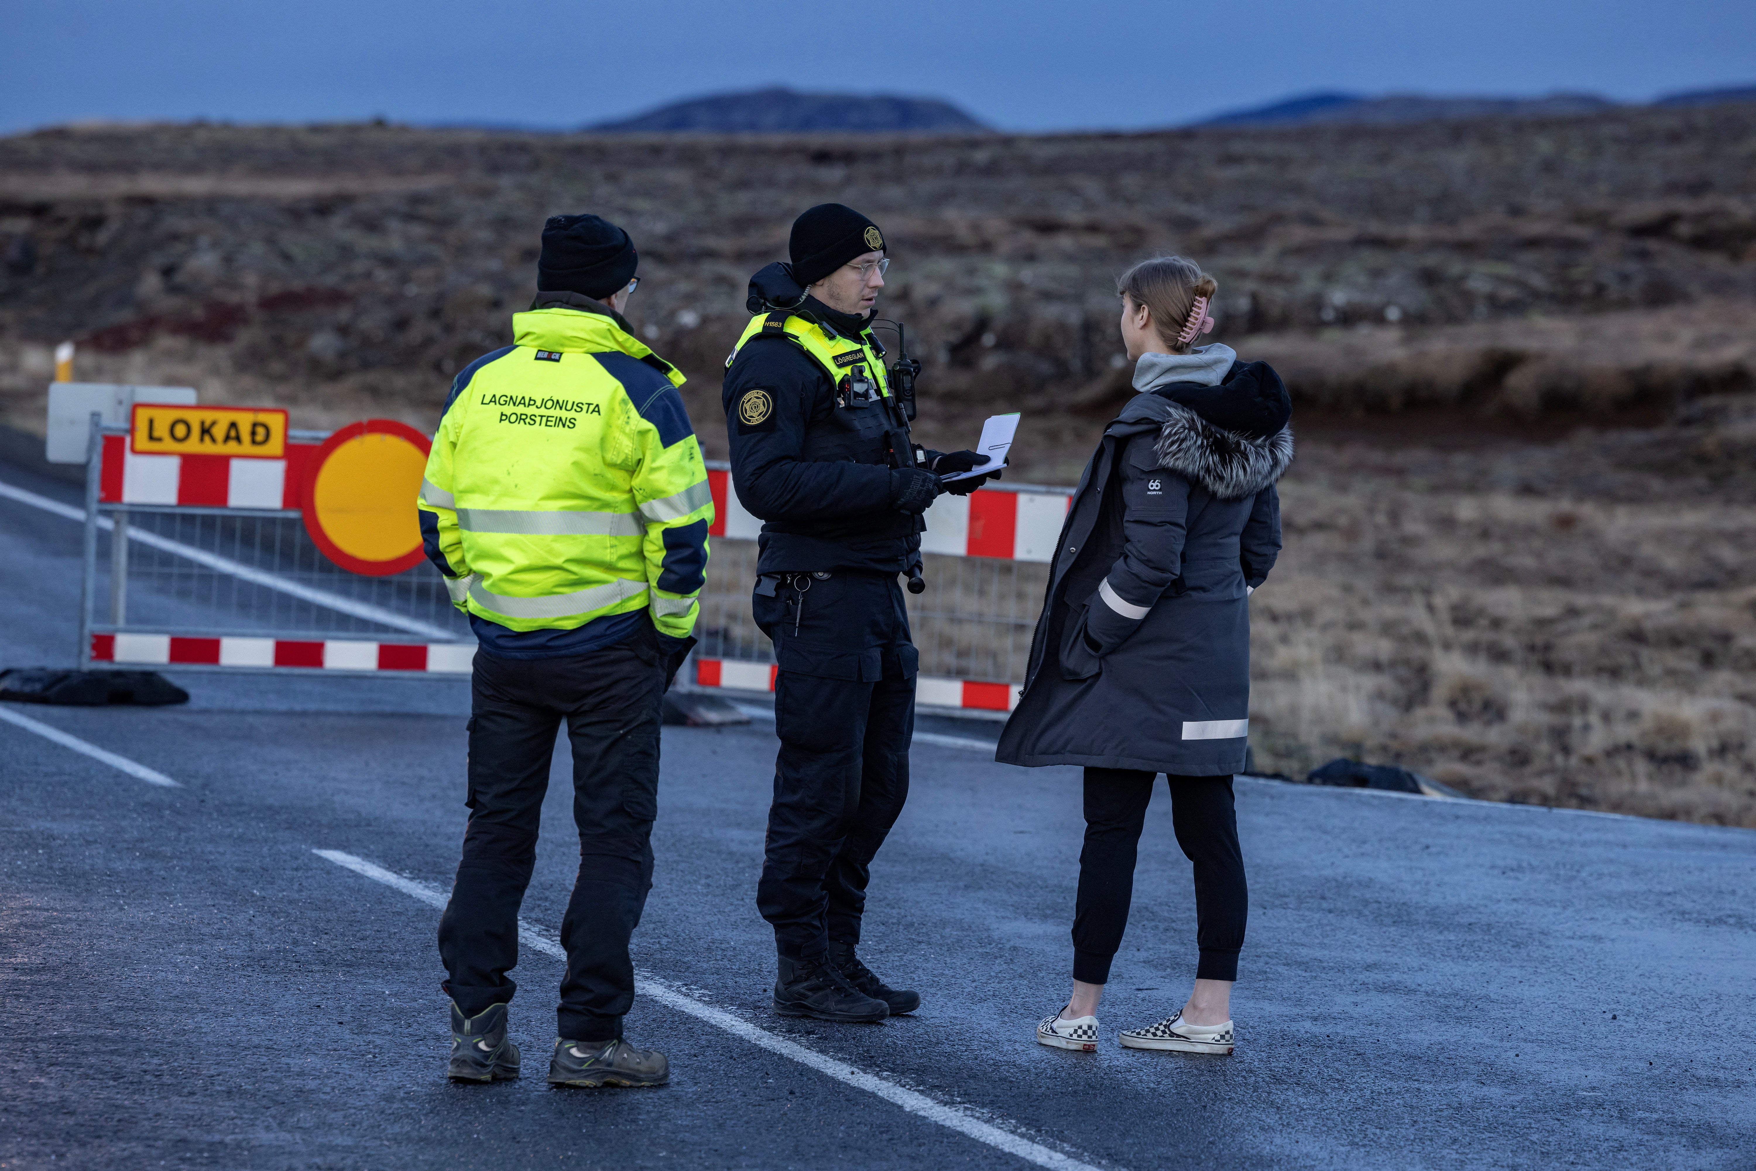
[[[1145,355],[1068,507],[996,758],[1177,776],[1243,769],[1245,597],[1280,553],[1291,402],[1226,346]]]

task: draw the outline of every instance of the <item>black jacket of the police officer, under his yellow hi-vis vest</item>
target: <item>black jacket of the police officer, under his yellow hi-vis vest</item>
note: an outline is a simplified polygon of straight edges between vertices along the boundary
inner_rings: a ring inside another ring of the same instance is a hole
[[[811,304],[834,328],[848,320]],[[766,390],[767,418],[746,423],[738,402]],[[720,393],[739,502],[762,520],[757,572],[866,569],[904,572],[925,521],[890,506],[892,427],[882,402],[836,406],[836,386],[785,335],[757,335],[725,370]]]

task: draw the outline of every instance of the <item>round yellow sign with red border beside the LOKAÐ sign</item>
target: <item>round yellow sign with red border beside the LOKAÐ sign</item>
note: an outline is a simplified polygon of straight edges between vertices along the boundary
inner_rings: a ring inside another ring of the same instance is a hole
[[[395,420],[349,423],[323,441],[306,462],[300,509],[325,557],[369,578],[421,560],[414,497],[430,448],[427,435]]]

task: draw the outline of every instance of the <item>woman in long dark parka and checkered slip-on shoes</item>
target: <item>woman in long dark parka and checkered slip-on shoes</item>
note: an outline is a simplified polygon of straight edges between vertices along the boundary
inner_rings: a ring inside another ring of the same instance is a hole
[[[1029,676],[996,757],[1085,765],[1085,848],[1073,918],[1073,994],[1043,1045],[1098,1048],[1098,1001],[1122,945],[1134,857],[1159,772],[1177,844],[1194,864],[1194,992],[1120,1041],[1231,1053],[1231,985],[1247,909],[1231,778],[1250,709],[1245,599],[1280,553],[1275,481],[1292,462],[1280,376],[1213,328],[1213,277],[1180,256],[1120,279],[1134,390],[1073,493],[1031,644]]]

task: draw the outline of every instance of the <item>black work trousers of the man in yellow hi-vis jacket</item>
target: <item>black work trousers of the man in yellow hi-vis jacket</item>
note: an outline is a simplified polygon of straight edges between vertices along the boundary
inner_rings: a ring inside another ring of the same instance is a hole
[[[439,920],[444,990],[465,1017],[513,999],[518,908],[537,857],[555,732],[572,744],[579,878],[562,918],[567,974],[557,1034],[622,1036],[634,1004],[629,938],[651,890],[658,723],[666,667],[650,630],[574,658],[476,655],[469,718],[469,827]]]

